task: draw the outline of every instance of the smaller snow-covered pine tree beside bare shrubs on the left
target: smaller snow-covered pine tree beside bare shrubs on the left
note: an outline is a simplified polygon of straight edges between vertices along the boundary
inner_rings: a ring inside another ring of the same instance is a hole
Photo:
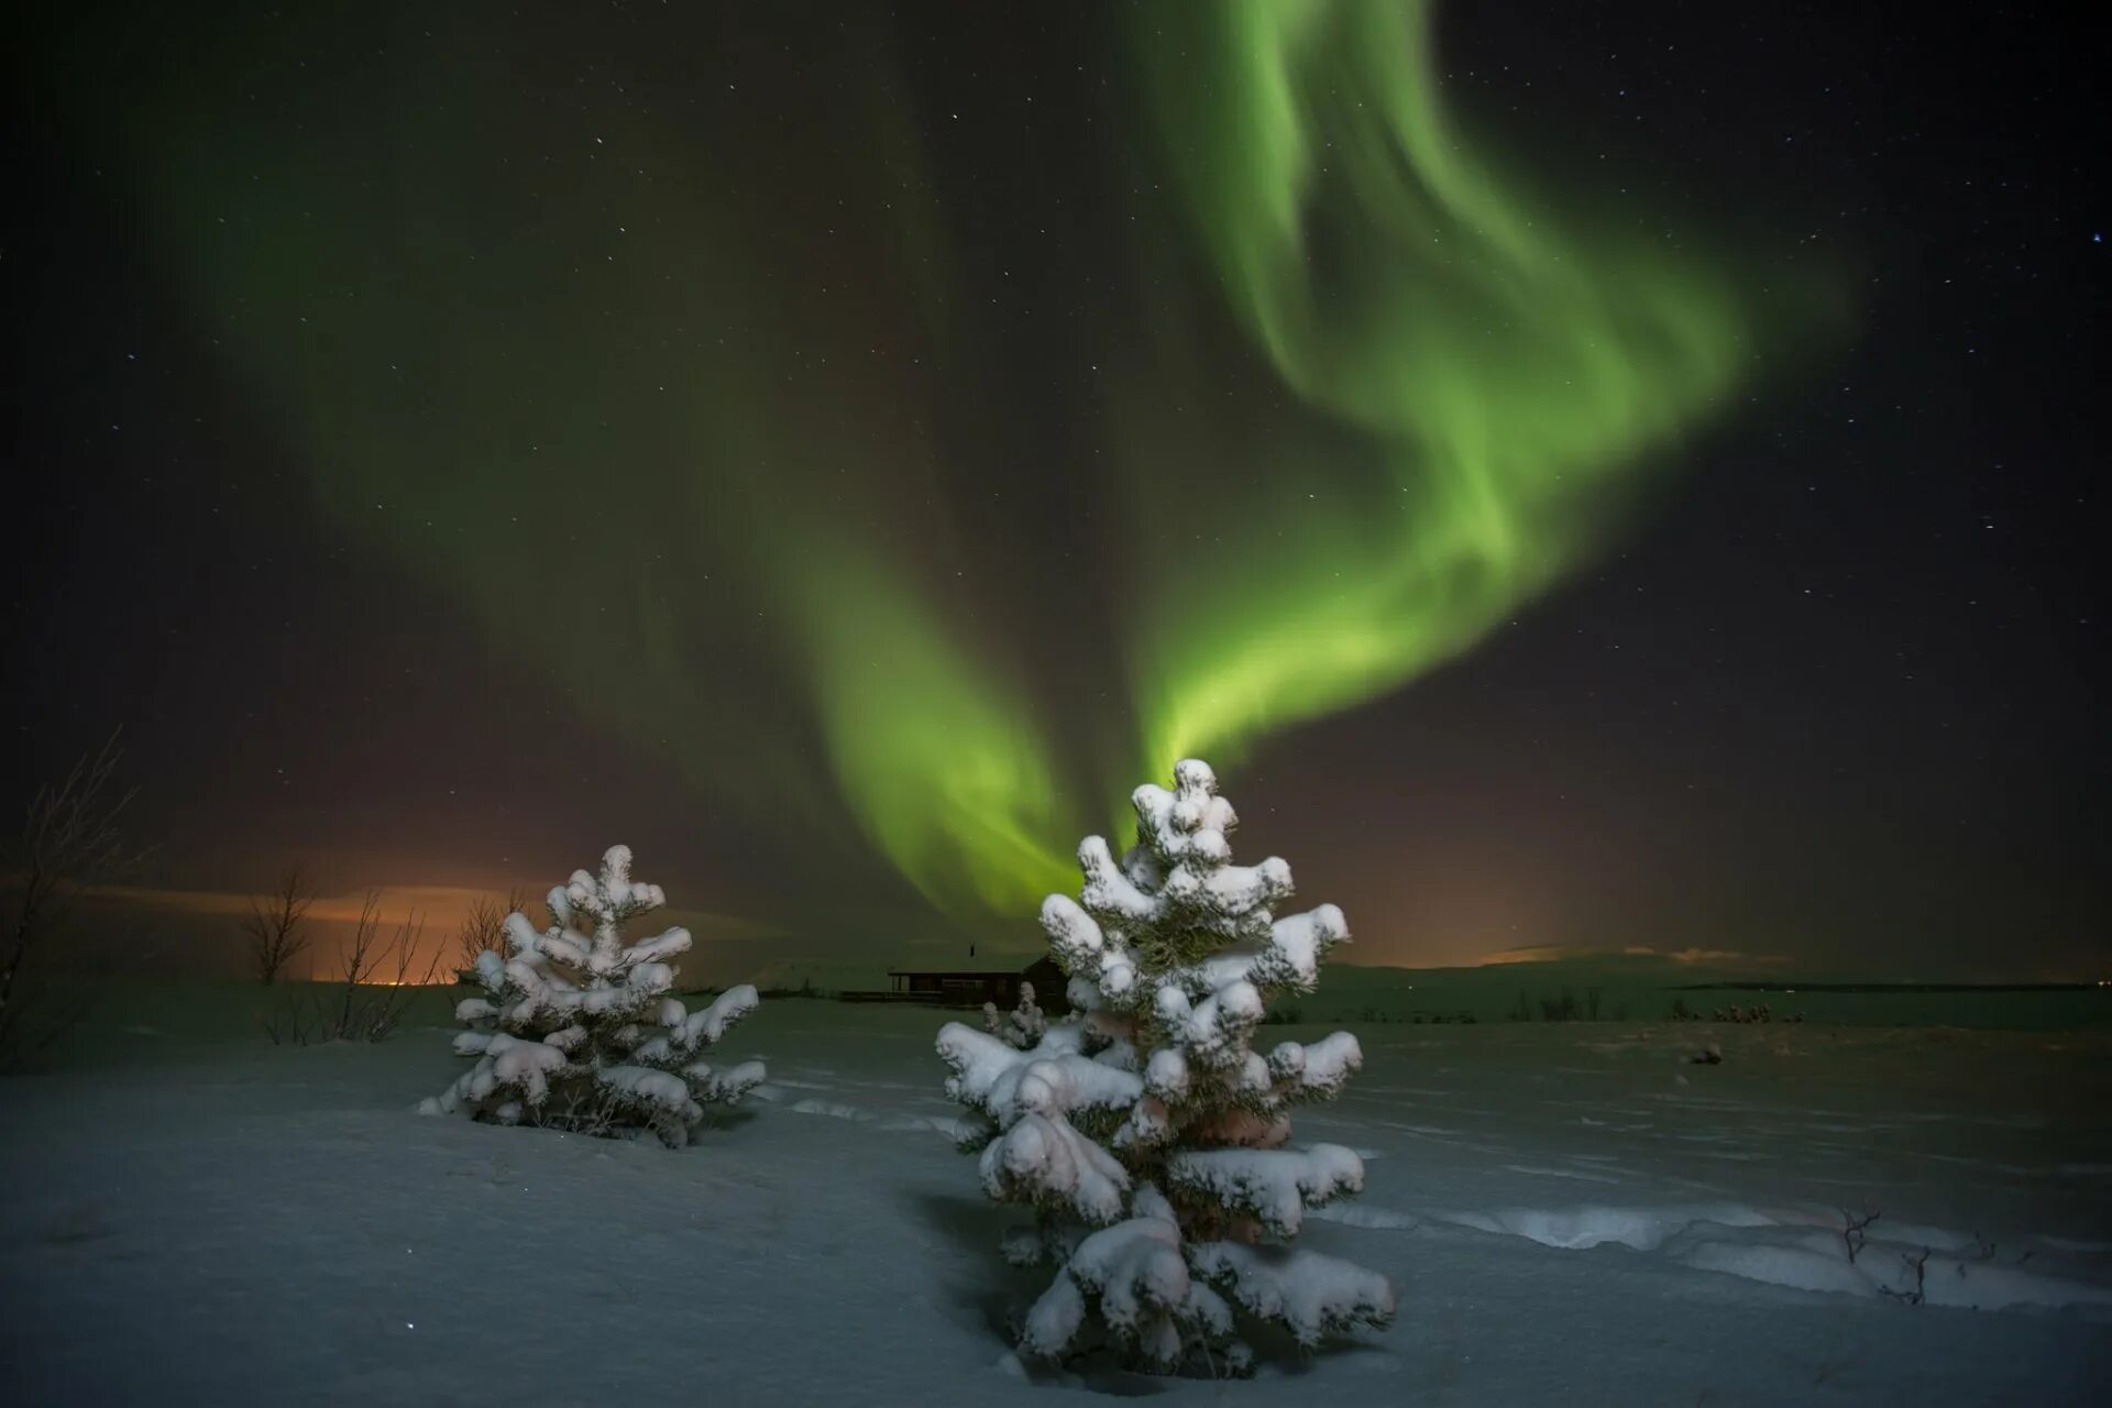
[[[549,929],[509,914],[511,954],[479,954],[486,996],[454,1009],[471,1028],[454,1051],[477,1064],[420,1112],[600,1136],[650,1129],[682,1146],[703,1106],[731,1104],[760,1083],[762,1062],[714,1070],[699,1060],[756,1009],[756,990],[727,988],[686,1011],[667,996],[676,975],[667,958],[689,950],[689,929],[625,944],[623,925],[665,901],[657,884],[631,880],[629,846],[610,846],[602,874],[574,870],[549,893]]]

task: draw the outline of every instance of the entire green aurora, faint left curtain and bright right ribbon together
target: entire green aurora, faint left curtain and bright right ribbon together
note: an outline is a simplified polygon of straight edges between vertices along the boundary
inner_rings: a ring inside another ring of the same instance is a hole
[[[1090,137],[1128,207],[1058,213],[1113,264],[1069,302],[959,215],[959,114],[881,17],[636,44],[591,118],[469,19],[315,6],[355,57],[304,72],[243,23],[144,36],[222,101],[122,141],[323,511],[701,806],[963,916],[1075,884],[1176,758],[1472,648],[1823,321],[1470,139],[1421,4],[1132,11]],[[756,87],[798,93],[767,131]]]

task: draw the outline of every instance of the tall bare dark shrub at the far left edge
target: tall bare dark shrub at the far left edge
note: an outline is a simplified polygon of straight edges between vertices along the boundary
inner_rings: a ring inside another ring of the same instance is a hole
[[[25,808],[21,840],[6,857],[8,882],[19,889],[0,950],[0,1068],[40,1055],[95,1001],[103,973],[87,958],[74,903],[84,891],[131,874],[144,855],[116,827],[133,800],[133,792],[112,785],[122,756],[112,732]]]

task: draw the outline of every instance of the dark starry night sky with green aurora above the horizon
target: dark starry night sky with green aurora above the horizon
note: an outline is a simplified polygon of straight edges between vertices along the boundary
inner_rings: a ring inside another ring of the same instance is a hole
[[[0,781],[879,963],[1200,754],[1358,963],[2099,977],[2042,13],[40,6]]]

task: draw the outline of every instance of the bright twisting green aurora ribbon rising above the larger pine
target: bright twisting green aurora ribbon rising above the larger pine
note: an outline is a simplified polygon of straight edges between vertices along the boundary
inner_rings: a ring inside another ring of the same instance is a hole
[[[1153,773],[1231,762],[1472,646],[1592,547],[1757,331],[1730,270],[1559,224],[1466,144],[1428,6],[1181,13],[1200,23],[1145,44],[1168,175],[1252,346],[1356,450],[1282,448],[1324,502],[1295,536],[1244,519],[1227,557],[1269,570],[1153,593],[1134,650]]]

